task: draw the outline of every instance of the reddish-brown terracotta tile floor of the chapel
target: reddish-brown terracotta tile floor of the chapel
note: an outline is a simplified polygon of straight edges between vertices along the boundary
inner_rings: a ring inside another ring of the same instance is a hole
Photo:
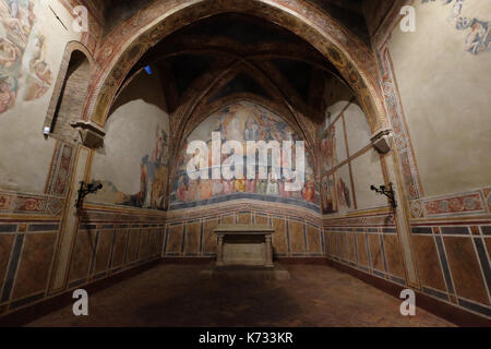
[[[205,265],[158,265],[89,297],[89,316],[72,308],[29,326],[452,326],[322,265],[288,265],[291,279],[203,279]]]

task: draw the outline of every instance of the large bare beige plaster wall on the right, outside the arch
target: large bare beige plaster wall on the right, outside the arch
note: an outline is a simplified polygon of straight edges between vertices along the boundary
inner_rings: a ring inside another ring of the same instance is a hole
[[[403,33],[396,25],[388,45],[429,196],[491,184],[490,36],[480,24],[462,27],[462,21],[489,26],[491,3],[462,3],[460,9],[454,1],[415,1],[416,32]]]

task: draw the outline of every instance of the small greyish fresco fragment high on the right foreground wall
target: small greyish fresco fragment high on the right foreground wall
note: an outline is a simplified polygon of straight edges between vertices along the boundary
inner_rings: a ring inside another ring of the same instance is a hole
[[[436,0],[422,0],[422,3]],[[465,14],[468,0],[440,0],[442,4],[453,4],[448,21],[458,31],[466,31],[465,49],[472,55],[491,51],[491,23],[476,16]]]

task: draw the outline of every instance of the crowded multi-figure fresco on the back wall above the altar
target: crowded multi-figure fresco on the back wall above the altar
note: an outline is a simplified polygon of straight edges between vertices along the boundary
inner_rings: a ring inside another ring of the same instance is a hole
[[[197,179],[192,180],[187,173],[187,165],[193,155],[185,154],[187,145],[194,140],[206,140],[209,145],[212,132],[220,132],[221,142],[239,141],[244,149],[248,141],[301,141],[292,129],[272,111],[249,101],[229,105],[206,118],[187,139],[178,157],[177,174],[172,185],[170,209],[195,207],[233,198],[254,198],[270,202],[296,204],[319,210],[320,193],[315,184],[312,160],[306,153],[306,182],[299,191],[287,191],[285,178],[275,179],[275,171],[280,167],[272,166],[271,153],[268,164],[258,163],[256,179]],[[208,149],[211,152],[211,146]],[[221,161],[229,155],[221,155]],[[244,154],[243,164],[247,164]],[[295,164],[295,161],[294,161]],[[260,179],[259,168],[266,170],[267,179]],[[212,172],[212,156],[208,155],[208,171]],[[211,176],[209,176],[211,178]]]

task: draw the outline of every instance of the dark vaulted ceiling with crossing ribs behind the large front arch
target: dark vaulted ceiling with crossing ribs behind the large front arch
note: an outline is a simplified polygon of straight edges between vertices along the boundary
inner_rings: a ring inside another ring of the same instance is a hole
[[[246,94],[290,106],[320,123],[325,77],[343,81],[328,60],[292,33],[239,13],[215,15],[166,37],[127,79],[147,65],[161,74],[170,115],[193,99],[213,104]]]

